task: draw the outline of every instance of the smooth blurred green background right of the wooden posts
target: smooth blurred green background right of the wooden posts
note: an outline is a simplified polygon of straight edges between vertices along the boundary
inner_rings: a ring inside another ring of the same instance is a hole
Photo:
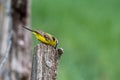
[[[57,80],[120,80],[120,0],[31,4],[32,28],[53,34],[64,49]]]

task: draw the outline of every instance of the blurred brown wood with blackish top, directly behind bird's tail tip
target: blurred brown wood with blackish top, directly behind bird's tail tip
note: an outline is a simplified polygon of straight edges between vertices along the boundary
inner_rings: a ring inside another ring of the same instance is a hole
[[[29,26],[29,0],[11,0],[13,38],[10,56],[11,80],[29,80],[31,72],[31,40],[29,32],[22,26]]]

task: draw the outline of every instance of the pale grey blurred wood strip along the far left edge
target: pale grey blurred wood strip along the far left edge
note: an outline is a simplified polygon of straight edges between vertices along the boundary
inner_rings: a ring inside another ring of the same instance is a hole
[[[11,49],[10,0],[0,0],[0,80],[9,79],[8,56]]]

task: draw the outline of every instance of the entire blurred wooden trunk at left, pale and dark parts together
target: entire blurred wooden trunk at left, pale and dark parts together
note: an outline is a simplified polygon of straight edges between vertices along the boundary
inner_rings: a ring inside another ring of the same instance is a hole
[[[30,25],[30,0],[0,0],[0,62],[12,42],[0,80],[29,80],[31,75],[31,38],[22,28]],[[2,20],[1,20],[2,19]],[[12,39],[9,38],[12,30]],[[1,34],[2,33],[2,34]]]

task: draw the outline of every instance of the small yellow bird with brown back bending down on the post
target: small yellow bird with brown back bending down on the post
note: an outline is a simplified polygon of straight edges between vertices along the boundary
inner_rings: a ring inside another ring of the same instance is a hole
[[[45,33],[43,31],[31,30],[25,26],[23,26],[23,28],[31,31],[35,35],[35,37],[42,43],[53,46],[54,48],[57,47],[58,40],[51,34]]]

